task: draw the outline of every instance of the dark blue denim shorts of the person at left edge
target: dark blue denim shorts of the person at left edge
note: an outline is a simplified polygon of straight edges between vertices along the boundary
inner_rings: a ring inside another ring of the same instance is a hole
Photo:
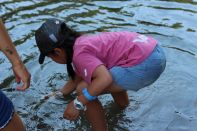
[[[14,115],[12,102],[0,90],[0,129],[3,129],[11,121]]]

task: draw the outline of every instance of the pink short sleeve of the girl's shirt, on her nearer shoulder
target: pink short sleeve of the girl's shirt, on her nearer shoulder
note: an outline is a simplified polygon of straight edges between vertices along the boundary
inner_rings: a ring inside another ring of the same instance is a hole
[[[73,59],[73,64],[79,75],[90,84],[94,70],[103,62],[94,55],[81,53]]]

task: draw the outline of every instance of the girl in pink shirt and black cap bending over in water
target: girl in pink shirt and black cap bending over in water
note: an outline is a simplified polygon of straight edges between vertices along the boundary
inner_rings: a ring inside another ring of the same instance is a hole
[[[165,69],[163,50],[152,37],[133,32],[104,32],[86,35],[70,29],[63,21],[49,19],[36,30],[40,50],[45,56],[67,64],[70,80],[61,89],[78,96],[65,109],[64,118],[75,120],[85,111],[94,130],[107,130],[98,95],[111,93],[120,108],[129,104],[127,90],[137,91],[152,84]]]

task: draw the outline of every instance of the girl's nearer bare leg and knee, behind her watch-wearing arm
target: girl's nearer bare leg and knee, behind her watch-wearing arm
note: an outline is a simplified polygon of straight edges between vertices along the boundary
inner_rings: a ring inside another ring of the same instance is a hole
[[[77,93],[80,95],[82,89],[88,85],[85,82],[80,82],[77,86]],[[107,131],[107,121],[105,119],[105,113],[103,107],[98,99],[89,102],[87,105],[85,115],[88,121],[91,123],[94,131]]]

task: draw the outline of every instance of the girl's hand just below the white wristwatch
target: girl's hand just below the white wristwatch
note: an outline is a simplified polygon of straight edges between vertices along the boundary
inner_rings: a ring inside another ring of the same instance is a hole
[[[79,117],[79,110],[74,106],[74,101],[70,102],[64,111],[64,118],[68,120],[75,120]]]

